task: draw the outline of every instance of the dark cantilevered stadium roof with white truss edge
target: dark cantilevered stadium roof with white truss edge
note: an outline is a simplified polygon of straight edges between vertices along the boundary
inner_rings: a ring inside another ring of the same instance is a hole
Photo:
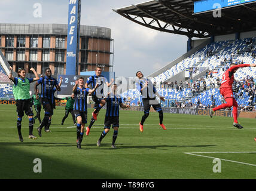
[[[221,17],[212,11],[194,14],[197,0],[154,0],[115,11],[135,23],[163,32],[208,38],[256,30],[256,2],[221,9]]]

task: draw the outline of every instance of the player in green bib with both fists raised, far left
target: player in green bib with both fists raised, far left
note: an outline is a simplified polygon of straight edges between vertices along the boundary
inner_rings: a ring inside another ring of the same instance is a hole
[[[13,95],[16,100],[16,107],[17,107],[17,129],[19,134],[19,139],[21,142],[23,142],[22,137],[22,118],[25,114],[29,118],[29,138],[36,139],[33,135],[33,110],[32,110],[32,101],[29,94],[29,88],[30,83],[33,81],[36,81],[39,79],[38,74],[36,73],[35,69],[33,67],[30,69],[34,75],[35,78],[26,78],[26,70],[20,69],[17,74],[19,78],[13,77],[13,67],[10,66],[10,73],[9,73],[9,79],[14,82],[13,85]]]

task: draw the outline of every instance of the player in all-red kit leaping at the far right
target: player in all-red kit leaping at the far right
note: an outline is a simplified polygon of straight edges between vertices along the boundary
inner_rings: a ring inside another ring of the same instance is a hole
[[[221,87],[220,87],[220,93],[224,97],[225,101],[227,103],[223,103],[218,107],[210,108],[210,116],[212,118],[212,115],[214,115],[214,112],[220,109],[225,109],[227,107],[233,107],[233,126],[239,129],[242,129],[242,125],[240,125],[237,121],[237,102],[234,99],[233,90],[232,90],[232,84],[234,82],[234,73],[236,73],[237,69],[240,67],[255,67],[256,64],[234,64],[231,63],[230,67],[223,73],[223,78],[221,81]]]

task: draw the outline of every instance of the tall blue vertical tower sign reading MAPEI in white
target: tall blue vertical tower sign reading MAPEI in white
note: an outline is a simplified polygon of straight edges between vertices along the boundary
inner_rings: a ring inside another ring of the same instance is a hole
[[[68,42],[66,48],[66,74],[75,75],[80,24],[80,0],[68,0]]]

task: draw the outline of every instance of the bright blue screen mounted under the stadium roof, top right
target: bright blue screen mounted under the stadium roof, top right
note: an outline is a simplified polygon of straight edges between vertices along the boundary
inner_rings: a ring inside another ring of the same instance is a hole
[[[194,13],[215,10],[216,8],[246,4],[256,0],[202,0],[194,2]]]

